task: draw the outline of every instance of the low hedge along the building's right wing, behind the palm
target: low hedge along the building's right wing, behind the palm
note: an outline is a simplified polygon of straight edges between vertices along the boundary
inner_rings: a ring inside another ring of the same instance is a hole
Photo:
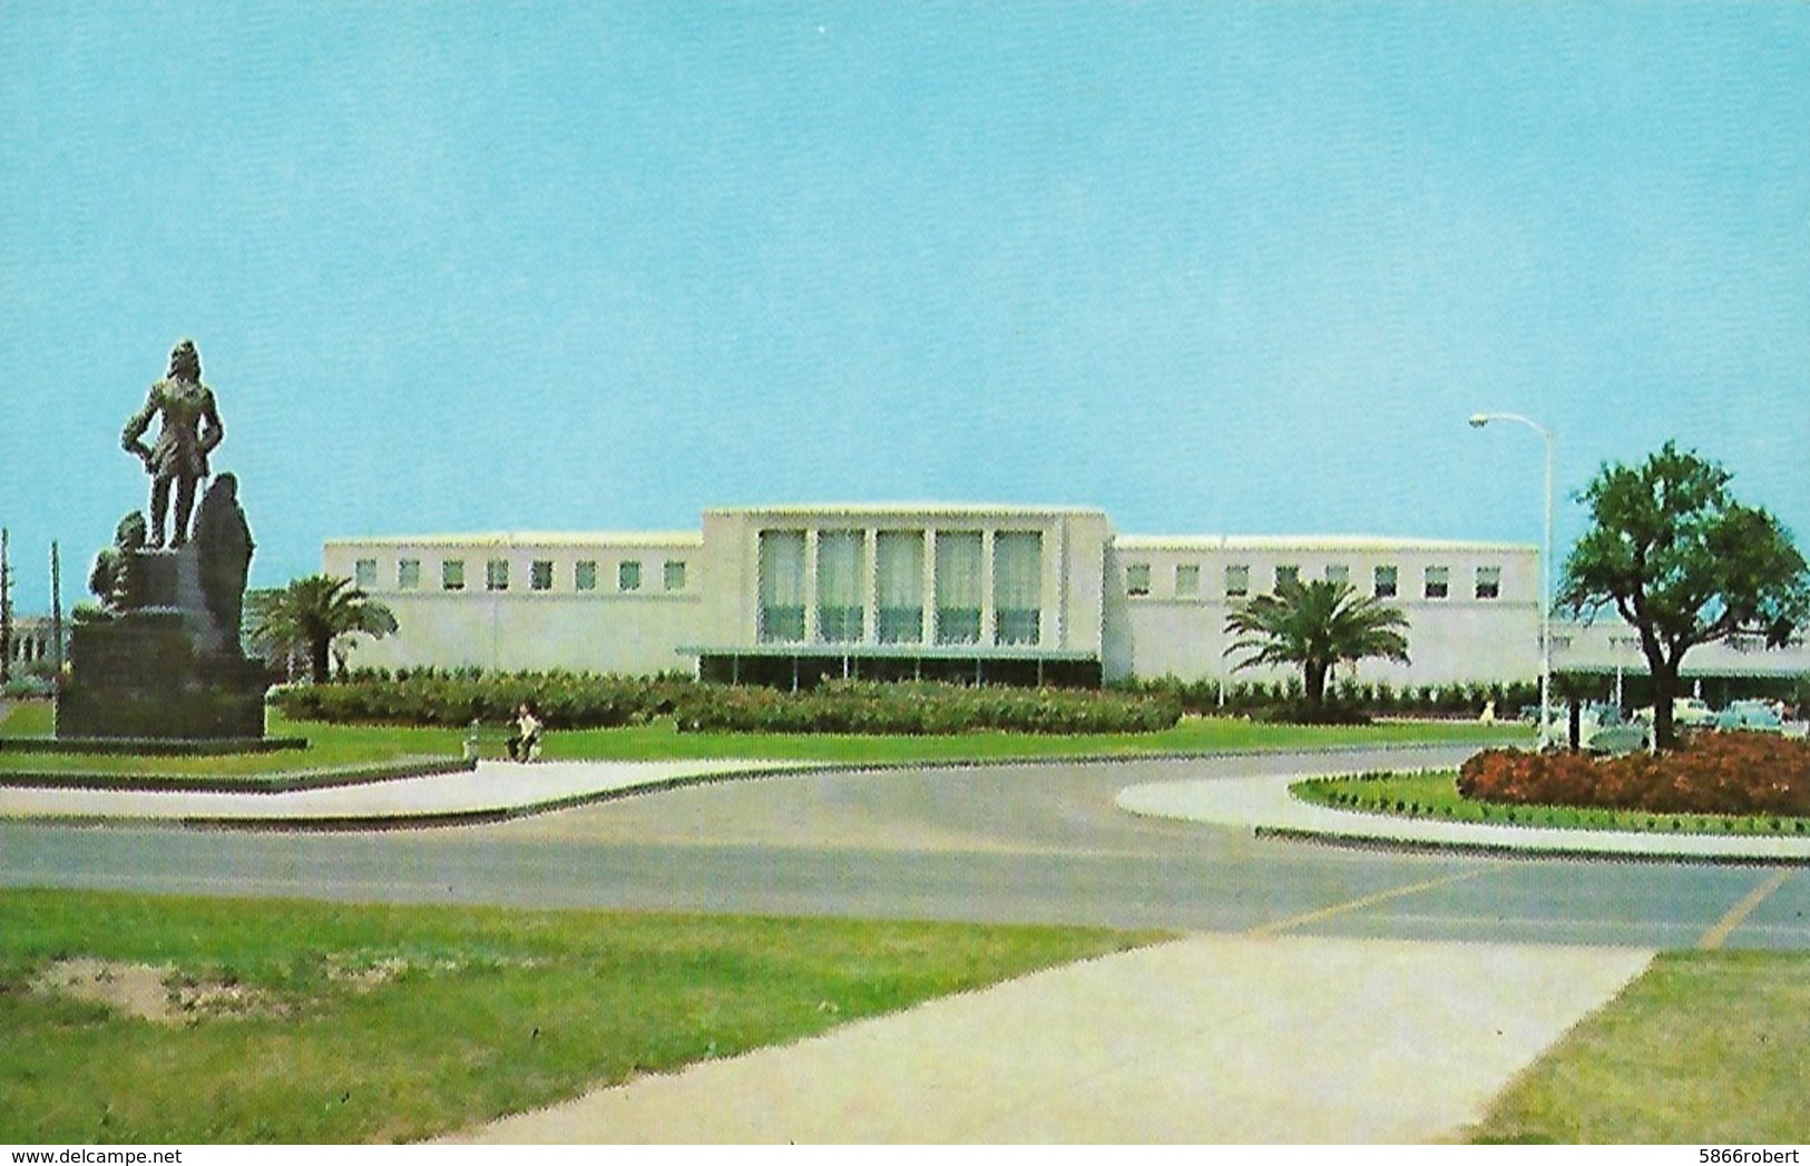
[[[1182,702],[1191,713],[1236,713],[1236,715],[1278,715],[1276,710],[1294,710],[1303,706],[1305,690],[1301,677],[1283,681],[1233,681],[1225,686],[1225,699],[1220,701],[1220,681],[1184,681],[1164,675],[1155,679],[1133,679],[1119,686],[1122,692],[1164,693]],[[1495,715],[1511,719],[1517,710],[1538,704],[1538,684],[1410,684],[1396,688],[1386,683],[1359,683],[1352,679],[1327,686],[1327,704],[1341,710],[1336,719],[1350,721],[1363,715],[1461,715],[1475,717],[1486,701],[1495,701]]]

